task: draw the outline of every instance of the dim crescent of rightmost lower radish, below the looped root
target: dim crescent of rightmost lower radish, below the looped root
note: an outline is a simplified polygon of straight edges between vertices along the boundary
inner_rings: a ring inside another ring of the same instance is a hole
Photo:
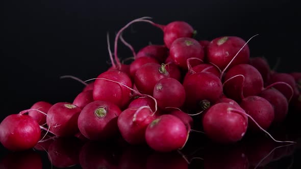
[[[258,96],[265,98],[273,106],[274,120],[272,123],[279,124],[285,120],[288,113],[288,101],[281,92],[275,89],[266,89]]]

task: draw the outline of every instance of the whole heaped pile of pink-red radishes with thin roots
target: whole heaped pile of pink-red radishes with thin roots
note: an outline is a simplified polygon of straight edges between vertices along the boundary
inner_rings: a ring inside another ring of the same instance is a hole
[[[135,22],[161,29],[164,44],[136,52],[122,38]],[[1,144],[22,151],[48,133],[99,142],[120,135],[130,145],[172,152],[196,130],[219,144],[264,132],[274,142],[290,143],[274,139],[268,129],[281,125],[288,112],[300,114],[301,72],[272,71],[263,58],[250,57],[248,41],[240,37],[208,41],[195,39],[195,33],[184,21],[161,25],[142,17],[129,22],[116,34],[114,54],[108,38],[112,65],[107,71],[86,80],[73,102],[39,101],[6,117]],[[120,62],[119,40],[132,50],[131,64]]]

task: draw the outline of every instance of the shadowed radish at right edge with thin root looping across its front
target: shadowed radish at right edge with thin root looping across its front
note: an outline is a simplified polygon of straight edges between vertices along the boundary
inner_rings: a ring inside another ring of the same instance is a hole
[[[293,88],[292,99],[296,98],[299,95],[297,83],[293,76],[291,76],[288,73],[273,73],[269,78],[268,85],[271,85],[272,83],[279,82],[279,81],[286,82],[288,83],[288,85],[290,85]],[[273,86],[273,88],[279,90],[279,92],[281,92],[288,100],[292,96],[291,89],[288,88],[286,85],[275,85]]]

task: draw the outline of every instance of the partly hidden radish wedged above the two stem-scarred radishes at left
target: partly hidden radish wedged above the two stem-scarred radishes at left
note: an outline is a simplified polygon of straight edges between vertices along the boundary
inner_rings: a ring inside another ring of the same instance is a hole
[[[93,90],[88,90],[78,94],[77,97],[73,100],[72,104],[83,109],[88,103],[91,103],[92,101],[94,101]]]

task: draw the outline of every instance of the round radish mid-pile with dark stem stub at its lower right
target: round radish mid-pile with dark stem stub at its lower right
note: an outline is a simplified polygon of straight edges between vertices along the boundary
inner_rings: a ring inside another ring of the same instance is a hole
[[[204,110],[222,95],[222,83],[210,72],[198,72],[183,81],[186,93],[185,106],[190,110]]]

